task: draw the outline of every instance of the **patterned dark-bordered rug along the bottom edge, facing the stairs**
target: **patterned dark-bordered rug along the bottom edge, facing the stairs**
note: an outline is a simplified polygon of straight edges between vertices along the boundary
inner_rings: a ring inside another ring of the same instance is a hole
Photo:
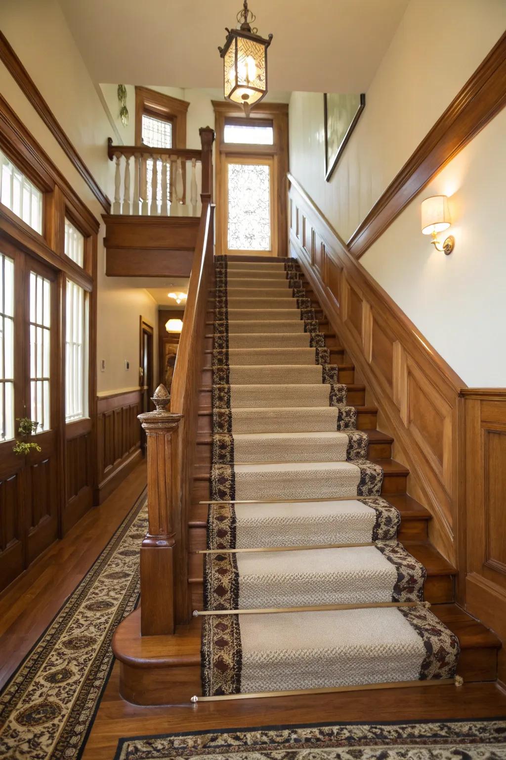
[[[495,760],[506,721],[313,724],[120,739],[115,760]]]

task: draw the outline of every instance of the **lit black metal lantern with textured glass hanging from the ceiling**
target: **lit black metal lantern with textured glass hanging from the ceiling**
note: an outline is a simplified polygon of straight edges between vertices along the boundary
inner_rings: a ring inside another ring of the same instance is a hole
[[[242,11],[237,14],[236,29],[227,29],[225,45],[218,47],[224,65],[225,100],[244,106],[246,116],[250,107],[259,103],[267,94],[267,48],[272,34],[267,40],[252,28],[255,16],[244,0]]]

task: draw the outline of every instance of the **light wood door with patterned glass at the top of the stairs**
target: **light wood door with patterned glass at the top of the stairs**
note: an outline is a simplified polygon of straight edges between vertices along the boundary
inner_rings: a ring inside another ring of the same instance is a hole
[[[278,255],[274,159],[227,155],[224,164],[222,251]]]

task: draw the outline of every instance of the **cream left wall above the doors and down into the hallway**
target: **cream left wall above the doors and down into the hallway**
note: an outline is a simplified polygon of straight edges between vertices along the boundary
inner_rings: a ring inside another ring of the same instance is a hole
[[[113,165],[106,160],[112,128],[60,6],[55,0],[2,0],[0,28],[46,99],[56,119],[102,189],[112,197]],[[68,179],[77,195],[101,220],[103,209],[61,150],[49,129],[0,63],[0,91],[34,138]],[[103,237],[99,230],[97,354],[106,359],[97,390],[138,387],[139,316],[156,328],[156,303],[131,280],[105,277]],[[130,360],[130,370],[124,369]]]

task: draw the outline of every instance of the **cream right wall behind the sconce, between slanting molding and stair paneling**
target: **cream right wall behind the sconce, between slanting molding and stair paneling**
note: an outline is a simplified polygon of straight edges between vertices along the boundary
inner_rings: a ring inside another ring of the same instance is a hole
[[[505,167],[503,109],[360,259],[474,388],[506,386]],[[423,198],[440,194],[448,195],[456,241],[449,256],[420,232]]]

